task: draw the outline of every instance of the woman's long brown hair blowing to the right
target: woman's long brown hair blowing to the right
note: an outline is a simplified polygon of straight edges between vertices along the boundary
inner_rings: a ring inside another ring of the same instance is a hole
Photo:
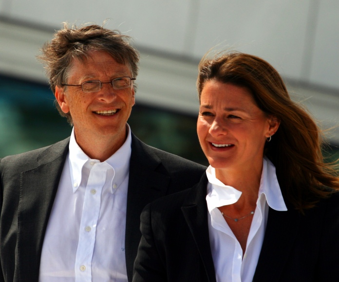
[[[293,102],[279,73],[263,59],[245,53],[208,54],[199,64],[199,101],[205,83],[215,80],[246,87],[257,106],[280,121],[264,154],[276,167],[283,195],[303,211],[328,194],[339,190],[334,163],[322,156],[322,133],[302,106]]]

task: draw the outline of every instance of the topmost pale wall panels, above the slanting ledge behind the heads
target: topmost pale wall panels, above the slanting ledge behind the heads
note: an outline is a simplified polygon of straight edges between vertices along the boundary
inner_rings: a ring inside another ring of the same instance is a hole
[[[0,0],[0,15],[56,29],[110,18],[138,46],[199,59],[220,44],[339,89],[338,0]]]

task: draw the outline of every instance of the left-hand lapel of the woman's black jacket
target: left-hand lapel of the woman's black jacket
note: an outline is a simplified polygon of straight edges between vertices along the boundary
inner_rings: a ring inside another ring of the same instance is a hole
[[[216,282],[213,258],[209,245],[206,189],[207,176],[205,173],[200,182],[189,192],[181,210],[198,247],[208,281]]]

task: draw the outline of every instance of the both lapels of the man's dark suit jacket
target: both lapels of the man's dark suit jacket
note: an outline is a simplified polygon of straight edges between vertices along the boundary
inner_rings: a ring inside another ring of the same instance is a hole
[[[21,173],[18,214],[20,281],[38,281],[43,238],[69,151],[69,140],[47,147],[38,155],[33,165],[35,168]],[[140,213],[150,201],[165,195],[169,185],[168,172],[153,150],[132,134],[125,237],[128,273],[132,273],[141,238]]]

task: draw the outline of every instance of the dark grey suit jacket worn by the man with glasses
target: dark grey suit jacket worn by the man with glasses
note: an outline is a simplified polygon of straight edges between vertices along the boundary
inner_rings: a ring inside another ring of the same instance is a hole
[[[41,248],[69,138],[0,160],[0,281],[38,281]],[[146,204],[191,187],[206,167],[155,149],[132,134],[125,255],[129,281]]]

